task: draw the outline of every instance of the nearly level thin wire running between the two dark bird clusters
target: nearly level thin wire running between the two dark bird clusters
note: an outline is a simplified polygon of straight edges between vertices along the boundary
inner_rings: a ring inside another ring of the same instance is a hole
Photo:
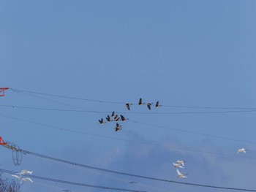
[[[88,112],[88,113],[111,113],[110,111],[95,111],[95,110],[64,110],[42,107],[24,107],[9,104],[0,104],[1,107],[12,107],[26,110],[46,110],[59,112]],[[186,114],[217,114],[217,113],[241,113],[241,112],[256,112],[256,110],[228,110],[228,111],[206,111],[206,112],[118,112],[121,114],[144,114],[144,115],[186,115]]]

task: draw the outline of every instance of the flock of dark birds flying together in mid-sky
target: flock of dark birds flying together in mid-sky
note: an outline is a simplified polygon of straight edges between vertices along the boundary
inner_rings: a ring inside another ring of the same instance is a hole
[[[154,103],[144,103],[142,101],[142,98],[140,98],[139,102],[138,102],[138,105],[146,105],[148,107],[148,110],[151,110],[151,105],[153,105]],[[130,110],[130,106],[133,105],[132,103],[127,103],[125,104],[125,107],[127,107],[127,110]],[[161,105],[159,104],[159,101],[156,102],[156,104],[154,104],[154,106],[157,108],[157,107],[160,107]],[[99,125],[103,125],[104,123],[108,123],[108,122],[111,122],[111,121],[125,121],[125,120],[129,120],[129,118],[124,118],[124,115],[116,115],[115,112],[112,112],[111,115],[107,115],[106,117],[106,121],[101,118],[99,119]],[[116,123],[116,127],[115,127],[115,131],[120,131],[122,128],[121,128],[121,125],[119,125],[119,123]]]

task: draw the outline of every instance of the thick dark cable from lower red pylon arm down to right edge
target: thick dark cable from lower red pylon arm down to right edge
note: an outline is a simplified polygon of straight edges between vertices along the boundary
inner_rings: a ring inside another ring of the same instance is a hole
[[[161,182],[165,182],[165,183],[176,183],[176,184],[181,184],[181,185],[192,185],[192,186],[197,186],[197,187],[204,187],[204,188],[219,188],[219,189],[225,189],[225,190],[236,190],[236,191],[256,191],[254,189],[246,189],[246,188],[230,188],[230,187],[222,187],[222,186],[216,186],[216,185],[203,185],[203,184],[197,184],[197,183],[186,183],[186,182],[179,182],[179,181],[175,181],[175,180],[166,180],[166,179],[161,179],[161,178],[157,178],[157,177],[147,177],[147,176],[143,176],[140,174],[129,174],[126,172],[117,172],[117,171],[113,171],[110,169],[102,169],[99,168],[97,166],[89,166],[89,165],[85,165],[85,164],[78,164],[78,163],[74,163],[72,161],[66,161],[64,159],[60,159],[60,158],[53,158],[47,155],[42,155],[39,153],[34,153],[28,150],[22,150],[19,149],[20,152],[25,153],[25,154],[29,154],[29,155],[34,155],[40,158],[47,158],[50,159],[52,161],[58,161],[64,164],[71,164],[73,166],[80,166],[83,168],[88,168],[88,169],[94,169],[94,170],[98,170],[98,171],[102,171],[102,172],[110,172],[110,173],[114,173],[114,174],[122,174],[122,175],[126,175],[126,176],[130,176],[130,177],[138,177],[138,178],[142,178],[142,179],[146,179],[146,180],[157,180],[157,181],[161,181]],[[1,171],[1,169],[0,169]]]

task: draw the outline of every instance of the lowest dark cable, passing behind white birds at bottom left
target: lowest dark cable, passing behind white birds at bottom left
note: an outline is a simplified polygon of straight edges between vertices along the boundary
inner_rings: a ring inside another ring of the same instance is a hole
[[[6,169],[0,169],[0,172],[16,174],[16,172],[12,172],[12,171],[6,170]],[[110,187],[105,187],[105,186],[100,186],[100,185],[89,185],[86,183],[75,183],[75,182],[66,181],[66,180],[57,180],[57,179],[53,179],[53,178],[49,178],[49,177],[40,177],[40,176],[36,176],[34,174],[29,174],[29,177],[37,179],[37,180],[48,180],[48,181],[55,182],[55,183],[65,183],[65,184],[69,184],[69,185],[78,185],[78,186],[89,187],[89,188],[101,188],[101,189],[108,189],[108,190],[115,190],[115,191],[129,191],[129,192],[146,192],[146,191],[125,189],[125,188],[110,188]]]

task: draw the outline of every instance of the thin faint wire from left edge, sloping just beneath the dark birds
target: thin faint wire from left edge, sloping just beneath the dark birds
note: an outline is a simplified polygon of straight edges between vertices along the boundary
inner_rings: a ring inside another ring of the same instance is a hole
[[[141,141],[135,141],[135,140],[129,140],[129,139],[121,139],[121,138],[118,138],[118,137],[108,137],[108,136],[103,136],[103,135],[99,135],[99,134],[90,134],[90,133],[87,133],[85,131],[75,131],[75,130],[72,130],[72,129],[60,128],[60,127],[51,126],[51,125],[48,125],[48,124],[45,124],[45,123],[37,123],[37,122],[31,121],[31,120],[23,120],[23,119],[20,119],[20,118],[14,118],[14,117],[10,117],[10,116],[7,116],[7,115],[1,115],[0,114],[0,116],[4,117],[4,118],[11,118],[11,119],[15,119],[15,120],[24,121],[24,122],[27,122],[27,123],[33,123],[33,124],[36,124],[36,125],[39,125],[39,126],[55,128],[55,129],[58,129],[58,130],[61,130],[61,131],[69,131],[69,132],[73,132],[73,133],[77,133],[77,134],[86,134],[86,135],[89,135],[89,136],[102,137],[102,138],[105,138],[105,139],[115,139],[115,140],[123,141],[123,142],[133,142],[133,143],[137,143],[137,144],[140,144],[140,145],[149,145],[149,146],[162,147],[162,148],[168,148],[168,149],[171,148],[173,150],[192,151],[192,152],[196,152],[196,153],[206,153],[206,154],[210,154],[210,155],[225,155],[225,156],[230,156],[230,157],[256,159],[256,158],[248,157],[248,156],[241,156],[241,155],[238,156],[238,155],[233,155],[233,154],[228,154],[228,153],[214,153],[214,152],[203,151],[203,150],[194,150],[194,149],[186,149],[186,148],[178,148],[178,147],[168,147],[166,145],[159,145],[159,144],[154,144],[154,143],[151,143],[151,142],[141,142]],[[242,142],[241,140],[238,140],[238,141]]]

